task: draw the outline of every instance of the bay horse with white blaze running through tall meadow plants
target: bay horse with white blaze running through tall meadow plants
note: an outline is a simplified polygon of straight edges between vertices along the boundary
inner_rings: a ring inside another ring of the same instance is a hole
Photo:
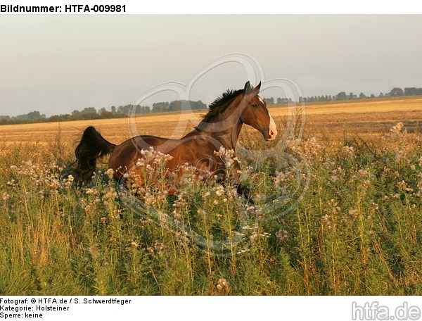
[[[220,182],[229,176],[238,194],[249,200],[249,191],[240,182],[241,167],[238,161],[234,158],[230,172],[226,173],[222,170],[226,168],[224,157],[218,151],[221,147],[235,151],[243,124],[261,132],[266,141],[276,138],[276,124],[269,114],[267,103],[258,96],[260,87],[261,82],[255,88],[246,82],[243,89],[227,90],[210,104],[208,113],[198,126],[181,139],[141,135],[115,145],[104,139],[94,127],[87,127],[75,149],[76,168],[71,174],[77,184],[88,184],[94,175],[96,160],[111,154],[108,168],[113,169],[117,182],[121,182],[124,173],[129,171],[141,179],[141,172],[137,172],[135,164],[142,159],[141,152],[152,146],[154,151],[172,156],[165,168],[170,182],[169,194],[177,191],[171,179],[174,172],[177,172],[179,165],[189,163],[202,173],[200,177],[204,180],[214,177]],[[203,175],[204,172],[208,175]]]

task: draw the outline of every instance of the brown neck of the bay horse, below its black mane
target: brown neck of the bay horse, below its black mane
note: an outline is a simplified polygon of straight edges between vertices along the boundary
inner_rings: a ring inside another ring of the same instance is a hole
[[[197,130],[217,139],[226,149],[236,149],[239,134],[243,122],[238,110],[238,99],[224,109],[219,115],[215,115],[211,122],[200,122]]]

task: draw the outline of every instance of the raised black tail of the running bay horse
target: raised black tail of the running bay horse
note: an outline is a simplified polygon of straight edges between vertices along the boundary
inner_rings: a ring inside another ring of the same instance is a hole
[[[71,171],[78,185],[89,184],[94,175],[96,160],[110,154],[115,144],[106,141],[99,132],[92,126],[84,130],[82,139],[75,149],[76,168]]]

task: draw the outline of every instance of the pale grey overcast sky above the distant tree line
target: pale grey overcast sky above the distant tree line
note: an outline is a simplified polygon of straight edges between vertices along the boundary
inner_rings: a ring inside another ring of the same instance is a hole
[[[0,115],[133,103],[235,52],[305,96],[422,87],[421,32],[421,15],[2,15]],[[210,103],[246,80],[222,65],[192,98]]]

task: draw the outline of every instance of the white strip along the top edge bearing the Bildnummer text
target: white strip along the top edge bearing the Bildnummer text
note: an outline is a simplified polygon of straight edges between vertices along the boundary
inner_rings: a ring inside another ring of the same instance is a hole
[[[198,0],[6,0],[5,5],[20,6],[65,6],[95,4],[120,4],[126,6],[125,14],[421,14],[421,1],[334,1],[334,0],[289,0],[289,1],[198,1]],[[1,13],[7,14],[7,13]],[[37,14],[37,13],[34,13]],[[49,13],[49,14],[98,14],[98,13]],[[115,13],[111,13],[115,14]],[[253,27],[253,21],[251,21]]]

